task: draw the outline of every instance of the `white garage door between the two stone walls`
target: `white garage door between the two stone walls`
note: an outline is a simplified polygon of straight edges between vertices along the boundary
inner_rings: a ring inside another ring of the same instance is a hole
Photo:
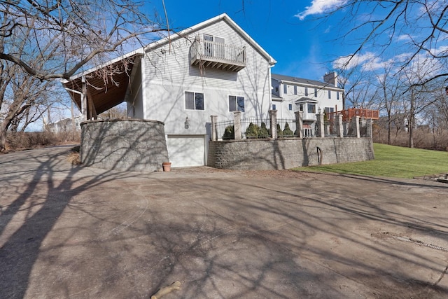
[[[204,165],[204,135],[168,135],[167,149],[172,167]]]

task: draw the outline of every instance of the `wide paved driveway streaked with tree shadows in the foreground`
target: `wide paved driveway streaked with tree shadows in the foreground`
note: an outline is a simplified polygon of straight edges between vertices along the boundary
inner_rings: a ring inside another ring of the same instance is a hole
[[[0,298],[447,298],[442,183],[0,155]]]

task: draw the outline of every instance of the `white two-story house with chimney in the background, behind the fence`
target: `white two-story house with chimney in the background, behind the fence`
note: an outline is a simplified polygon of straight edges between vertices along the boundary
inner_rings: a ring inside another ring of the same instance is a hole
[[[304,127],[316,122],[316,113],[331,113],[344,109],[344,89],[337,87],[337,74],[323,76],[324,82],[272,74],[272,109],[277,118],[295,118],[295,111],[303,112]]]

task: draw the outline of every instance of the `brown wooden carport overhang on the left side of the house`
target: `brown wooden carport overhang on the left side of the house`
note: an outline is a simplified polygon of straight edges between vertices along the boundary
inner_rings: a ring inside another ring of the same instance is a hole
[[[132,70],[137,69],[139,57],[141,54],[134,53],[62,83],[83,114],[83,120],[96,119],[99,113],[125,101]]]

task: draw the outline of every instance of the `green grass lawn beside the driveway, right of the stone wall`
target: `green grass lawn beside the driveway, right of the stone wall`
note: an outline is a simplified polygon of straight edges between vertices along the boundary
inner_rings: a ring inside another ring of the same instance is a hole
[[[448,173],[448,153],[418,148],[374,144],[375,159],[295,168],[297,171],[336,172],[367,176],[391,176],[412,179],[416,176]]]

